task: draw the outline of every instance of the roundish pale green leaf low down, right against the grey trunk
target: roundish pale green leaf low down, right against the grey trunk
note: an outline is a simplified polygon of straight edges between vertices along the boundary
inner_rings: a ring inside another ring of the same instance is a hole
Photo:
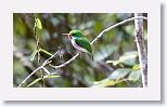
[[[136,82],[140,79],[140,76],[141,76],[140,70],[134,70],[134,71],[131,71],[128,78],[129,78],[129,81]]]

